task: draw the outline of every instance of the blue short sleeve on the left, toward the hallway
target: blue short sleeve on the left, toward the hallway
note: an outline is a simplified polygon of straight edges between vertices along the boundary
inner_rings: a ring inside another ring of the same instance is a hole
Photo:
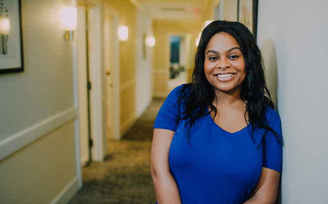
[[[178,91],[184,85],[180,85],[173,89],[171,93],[166,97],[162,107],[157,113],[154,128],[167,129],[175,131],[176,129],[176,117],[179,113],[177,107]]]

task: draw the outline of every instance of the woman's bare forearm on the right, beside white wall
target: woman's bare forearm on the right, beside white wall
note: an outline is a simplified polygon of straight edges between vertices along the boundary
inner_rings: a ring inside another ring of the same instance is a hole
[[[277,197],[280,173],[262,167],[257,184],[244,204],[273,204]]]

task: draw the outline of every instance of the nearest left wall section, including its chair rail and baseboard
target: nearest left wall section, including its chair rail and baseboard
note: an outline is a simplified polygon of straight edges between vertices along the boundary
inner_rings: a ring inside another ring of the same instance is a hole
[[[0,75],[0,203],[65,202],[78,189],[66,3],[22,1],[25,71]]]

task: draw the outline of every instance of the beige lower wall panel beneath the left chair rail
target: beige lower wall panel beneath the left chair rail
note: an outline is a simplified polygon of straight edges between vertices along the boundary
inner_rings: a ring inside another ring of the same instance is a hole
[[[1,160],[0,203],[51,203],[77,179],[74,146],[71,121]]]

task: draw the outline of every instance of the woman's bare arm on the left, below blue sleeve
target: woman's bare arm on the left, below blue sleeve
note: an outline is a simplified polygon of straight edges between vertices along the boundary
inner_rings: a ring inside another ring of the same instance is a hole
[[[169,166],[169,150],[174,131],[154,129],[150,172],[159,204],[182,203],[178,185]]]

